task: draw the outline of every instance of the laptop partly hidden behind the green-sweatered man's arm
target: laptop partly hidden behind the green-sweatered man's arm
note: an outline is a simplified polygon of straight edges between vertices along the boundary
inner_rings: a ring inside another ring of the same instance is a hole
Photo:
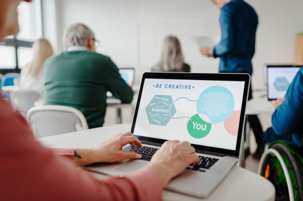
[[[121,78],[128,84],[128,86],[132,87],[134,84],[135,78],[135,69],[134,68],[121,68],[119,69],[119,73]],[[107,104],[119,104],[121,100],[117,99],[111,92],[107,92]]]

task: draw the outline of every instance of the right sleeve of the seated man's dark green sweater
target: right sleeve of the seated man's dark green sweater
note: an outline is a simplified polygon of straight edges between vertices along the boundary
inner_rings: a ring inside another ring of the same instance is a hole
[[[114,94],[114,96],[120,99],[123,103],[131,103],[134,93],[131,87],[121,78],[119,69],[111,58],[108,58],[108,68],[105,75],[105,81],[108,86],[108,90]]]

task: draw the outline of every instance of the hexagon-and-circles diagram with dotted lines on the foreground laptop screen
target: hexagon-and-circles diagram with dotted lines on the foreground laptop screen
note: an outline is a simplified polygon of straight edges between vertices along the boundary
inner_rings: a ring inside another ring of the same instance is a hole
[[[184,104],[196,105],[196,114],[192,116],[175,115],[175,103],[185,100]],[[235,99],[233,94],[225,87],[212,86],[200,93],[197,99],[178,97],[173,99],[170,95],[155,95],[146,106],[145,111],[149,124],[166,126],[169,121],[187,118],[188,134],[195,139],[208,136],[215,124],[224,123],[226,131],[238,135],[240,110],[234,110]]]

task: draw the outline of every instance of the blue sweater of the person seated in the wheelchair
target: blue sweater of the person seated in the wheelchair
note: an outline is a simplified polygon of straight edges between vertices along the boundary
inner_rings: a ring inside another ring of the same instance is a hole
[[[300,146],[303,133],[303,68],[290,84],[283,103],[272,116],[273,130],[277,136],[289,136],[290,143]]]

